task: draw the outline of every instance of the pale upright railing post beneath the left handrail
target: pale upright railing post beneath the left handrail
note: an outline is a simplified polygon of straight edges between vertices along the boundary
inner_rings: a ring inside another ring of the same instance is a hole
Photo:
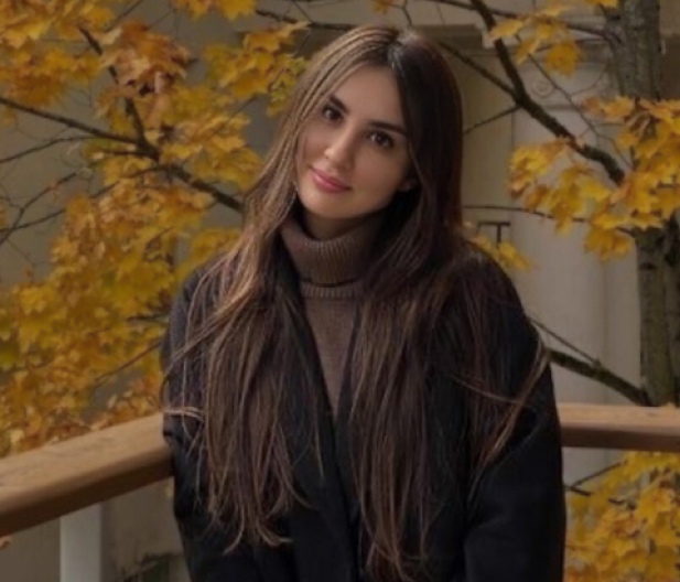
[[[60,582],[111,582],[105,514],[96,504],[60,518]]]

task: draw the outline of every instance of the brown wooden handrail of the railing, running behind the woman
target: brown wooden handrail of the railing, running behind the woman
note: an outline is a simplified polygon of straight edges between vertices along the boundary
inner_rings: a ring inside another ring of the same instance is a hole
[[[680,452],[680,410],[559,405],[564,446]],[[0,537],[171,476],[161,414],[0,459]]]

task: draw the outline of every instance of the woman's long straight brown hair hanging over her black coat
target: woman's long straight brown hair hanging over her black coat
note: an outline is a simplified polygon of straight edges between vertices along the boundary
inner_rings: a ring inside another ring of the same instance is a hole
[[[186,387],[201,387],[198,398],[185,394],[180,403],[194,405],[201,420],[209,511],[228,527],[234,546],[281,543],[273,524],[298,495],[282,408],[290,363],[300,357],[300,304],[281,284],[279,229],[296,204],[296,143],[306,120],[339,83],[367,65],[389,67],[397,79],[418,186],[397,193],[385,211],[376,258],[365,274],[370,292],[359,301],[350,354],[348,430],[369,539],[364,565],[376,582],[409,581],[425,562],[436,510],[427,400],[433,363],[455,351],[450,357],[455,386],[467,394],[476,470],[501,450],[541,370],[538,349],[521,386],[512,391],[504,386],[510,373],[507,346],[494,345],[503,311],[495,306],[517,306],[518,300],[504,273],[461,231],[461,96],[434,43],[413,31],[363,26],[316,55],[246,196],[237,247],[201,278],[188,341],[173,367],[184,370]],[[311,381],[296,382],[312,401]],[[419,524],[415,552],[404,547],[407,522]]]

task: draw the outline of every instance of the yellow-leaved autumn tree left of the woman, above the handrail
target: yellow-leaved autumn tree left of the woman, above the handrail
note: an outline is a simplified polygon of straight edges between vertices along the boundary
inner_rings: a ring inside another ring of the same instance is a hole
[[[141,4],[0,6],[6,134],[26,119],[51,122],[30,148],[7,143],[0,164],[67,152],[63,174],[36,192],[6,186],[0,198],[2,250],[28,229],[58,224],[51,268],[29,263],[21,281],[0,287],[0,455],[158,410],[170,300],[190,269],[236,236],[198,227],[215,205],[240,208],[259,164],[245,139],[247,106],[265,97],[276,114],[304,63],[289,53],[303,23],[192,54],[141,18]],[[164,10],[226,25],[253,2],[176,0]],[[83,94],[88,107],[75,115]],[[190,252],[176,263],[182,239]]]

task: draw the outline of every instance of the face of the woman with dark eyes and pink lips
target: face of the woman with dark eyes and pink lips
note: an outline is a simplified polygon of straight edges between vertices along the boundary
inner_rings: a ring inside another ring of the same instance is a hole
[[[304,224],[319,239],[339,236],[413,185],[397,80],[365,66],[332,94],[303,129],[298,193]]]

